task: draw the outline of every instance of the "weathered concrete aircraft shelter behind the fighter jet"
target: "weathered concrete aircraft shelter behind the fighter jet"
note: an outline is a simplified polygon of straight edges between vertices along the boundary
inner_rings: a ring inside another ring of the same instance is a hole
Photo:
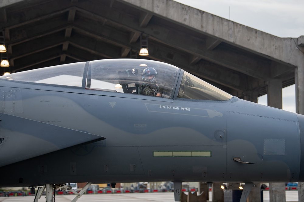
[[[295,75],[297,67],[303,74],[304,36],[279,38],[172,0],[5,0],[0,29],[11,72],[106,58],[152,59],[239,98],[257,102],[268,93],[268,105],[277,108],[281,88],[303,82]],[[140,35],[148,39],[149,56],[138,55]]]

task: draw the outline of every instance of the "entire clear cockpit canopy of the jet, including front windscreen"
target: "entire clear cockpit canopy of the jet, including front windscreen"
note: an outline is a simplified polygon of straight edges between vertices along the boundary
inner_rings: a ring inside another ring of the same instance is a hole
[[[88,90],[140,94],[145,68],[157,71],[156,84],[164,84],[162,97],[195,100],[229,100],[232,95],[211,84],[163,62],[141,59],[105,59],[22,71],[1,76],[1,79],[63,85]],[[180,82],[178,79],[181,78]]]

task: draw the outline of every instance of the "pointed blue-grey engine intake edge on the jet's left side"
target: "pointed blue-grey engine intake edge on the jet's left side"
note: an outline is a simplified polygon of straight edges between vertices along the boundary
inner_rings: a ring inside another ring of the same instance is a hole
[[[0,113],[0,167],[104,137]]]

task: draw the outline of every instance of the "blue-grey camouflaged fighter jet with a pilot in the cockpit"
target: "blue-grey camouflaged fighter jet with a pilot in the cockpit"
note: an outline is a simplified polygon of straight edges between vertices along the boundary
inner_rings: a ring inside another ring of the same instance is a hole
[[[105,59],[0,77],[0,187],[304,180],[304,116],[163,62]],[[32,188],[33,189],[33,188]],[[243,191],[241,201],[247,194]]]

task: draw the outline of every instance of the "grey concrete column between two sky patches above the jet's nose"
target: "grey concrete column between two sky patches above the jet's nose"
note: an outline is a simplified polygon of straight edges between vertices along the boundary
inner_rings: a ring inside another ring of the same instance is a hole
[[[282,109],[282,80],[270,79],[267,88],[268,106]]]

